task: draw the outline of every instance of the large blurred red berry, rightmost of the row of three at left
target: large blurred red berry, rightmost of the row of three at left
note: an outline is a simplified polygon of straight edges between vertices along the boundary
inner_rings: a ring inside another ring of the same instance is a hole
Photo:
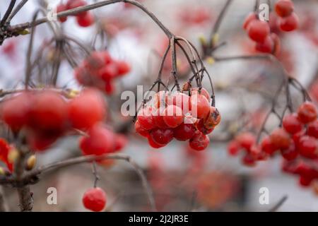
[[[106,105],[98,90],[85,89],[69,102],[69,120],[76,129],[89,129],[106,117]]]

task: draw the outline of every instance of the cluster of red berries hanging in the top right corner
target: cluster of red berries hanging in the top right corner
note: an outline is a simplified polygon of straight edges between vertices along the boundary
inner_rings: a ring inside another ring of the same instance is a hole
[[[293,13],[293,2],[279,0],[275,10],[280,17],[277,20],[278,27],[285,32],[298,28],[298,16]],[[257,13],[249,13],[243,24],[249,38],[256,42],[255,49],[259,52],[278,54],[281,49],[281,41],[274,32],[271,32],[269,23],[259,20]]]

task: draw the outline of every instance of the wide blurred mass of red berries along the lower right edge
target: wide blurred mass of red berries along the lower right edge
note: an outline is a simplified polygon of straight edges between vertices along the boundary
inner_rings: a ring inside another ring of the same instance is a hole
[[[252,133],[241,133],[228,145],[228,153],[237,155],[240,150],[246,150],[242,162],[245,165],[255,165],[257,160],[265,160],[279,151],[286,162],[295,160],[318,160],[318,119],[317,108],[312,102],[304,102],[298,108],[297,113],[285,115],[282,127],[271,132],[262,139],[258,145],[256,137]],[[290,168],[287,163],[283,167],[285,171]],[[304,163],[301,164],[301,167]],[[295,167],[293,167],[294,169]],[[318,171],[308,167],[310,175],[304,170],[296,170],[300,174],[300,184],[305,181],[312,182],[318,179]]]

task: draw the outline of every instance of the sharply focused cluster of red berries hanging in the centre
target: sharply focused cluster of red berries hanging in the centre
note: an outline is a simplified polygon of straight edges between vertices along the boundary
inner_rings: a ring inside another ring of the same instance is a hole
[[[156,93],[153,102],[139,111],[136,132],[148,138],[153,148],[162,148],[175,138],[189,140],[194,150],[204,150],[210,143],[207,134],[220,123],[220,114],[210,105],[204,88],[192,88],[190,93]]]

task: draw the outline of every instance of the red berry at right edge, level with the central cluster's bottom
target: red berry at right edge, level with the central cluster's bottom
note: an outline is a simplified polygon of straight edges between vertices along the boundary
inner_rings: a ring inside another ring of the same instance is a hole
[[[312,136],[302,136],[298,142],[300,155],[309,158],[318,157],[317,141]]]

